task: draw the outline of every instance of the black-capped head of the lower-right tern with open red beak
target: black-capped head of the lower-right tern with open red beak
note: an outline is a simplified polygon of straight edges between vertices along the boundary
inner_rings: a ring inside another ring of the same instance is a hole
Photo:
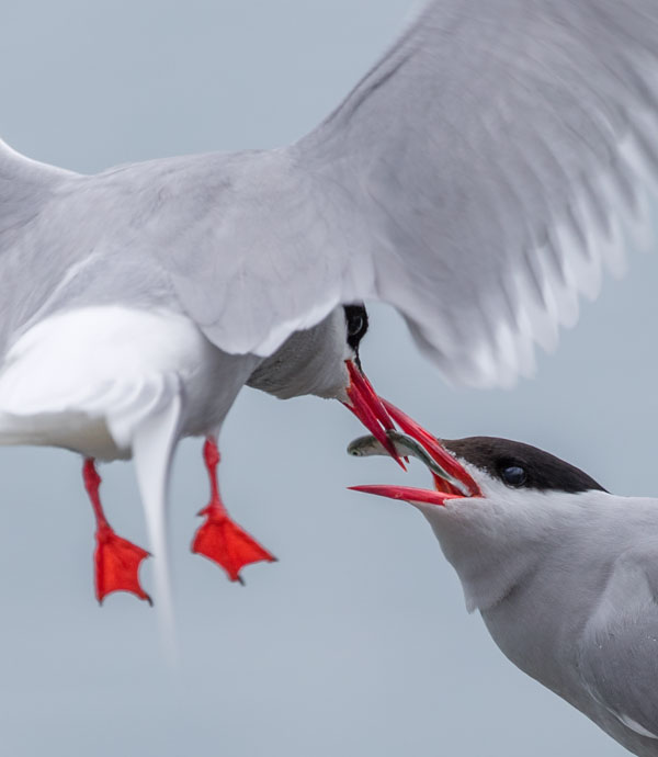
[[[389,431],[389,441],[400,456],[427,465],[433,486],[351,488],[407,501],[422,512],[461,578],[469,610],[494,607],[547,555],[559,563],[560,550],[572,550],[578,534],[592,538],[592,516],[605,509],[600,506],[610,495],[579,468],[507,439],[439,440],[384,404],[404,431]],[[387,454],[374,437],[355,439],[348,451]]]

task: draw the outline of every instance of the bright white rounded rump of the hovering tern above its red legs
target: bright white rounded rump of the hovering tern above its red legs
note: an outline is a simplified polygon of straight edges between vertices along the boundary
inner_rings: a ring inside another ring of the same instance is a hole
[[[215,348],[189,318],[116,305],[59,313],[25,331],[0,369],[0,443],[113,460],[181,397],[179,436],[215,430],[258,362]]]

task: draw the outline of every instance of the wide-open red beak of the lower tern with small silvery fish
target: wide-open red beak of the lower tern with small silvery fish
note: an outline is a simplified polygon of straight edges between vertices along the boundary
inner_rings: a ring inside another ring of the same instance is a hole
[[[382,399],[382,404],[402,430],[400,433],[387,429],[387,442],[395,449],[398,459],[399,455],[413,456],[424,463],[432,474],[434,487],[420,489],[411,486],[370,485],[351,486],[352,490],[438,506],[445,505],[449,499],[483,496],[473,476],[434,436],[392,403]],[[375,436],[355,439],[348,447],[348,452],[358,457],[390,454],[388,448]]]

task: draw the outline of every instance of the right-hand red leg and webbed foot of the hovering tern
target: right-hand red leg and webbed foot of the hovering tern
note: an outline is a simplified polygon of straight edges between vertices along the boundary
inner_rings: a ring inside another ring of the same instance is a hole
[[[252,539],[228,515],[217,485],[219,450],[211,437],[206,439],[203,447],[203,459],[211,481],[211,501],[198,513],[205,516],[206,520],[194,534],[192,552],[217,563],[226,570],[230,580],[242,584],[240,570],[246,565],[260,561],[273,563],[276,557]]]

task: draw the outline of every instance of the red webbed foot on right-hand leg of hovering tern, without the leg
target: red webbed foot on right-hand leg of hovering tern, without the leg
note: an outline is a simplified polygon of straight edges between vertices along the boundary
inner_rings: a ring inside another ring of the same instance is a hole
[[[242,584],[240,570],[251,563],[276,562],[276,557],[234,522],[224,507],[211,504],[200,516],[206,516],[194,534],[192,552],[203,555],[223,567],[230,580]]]

